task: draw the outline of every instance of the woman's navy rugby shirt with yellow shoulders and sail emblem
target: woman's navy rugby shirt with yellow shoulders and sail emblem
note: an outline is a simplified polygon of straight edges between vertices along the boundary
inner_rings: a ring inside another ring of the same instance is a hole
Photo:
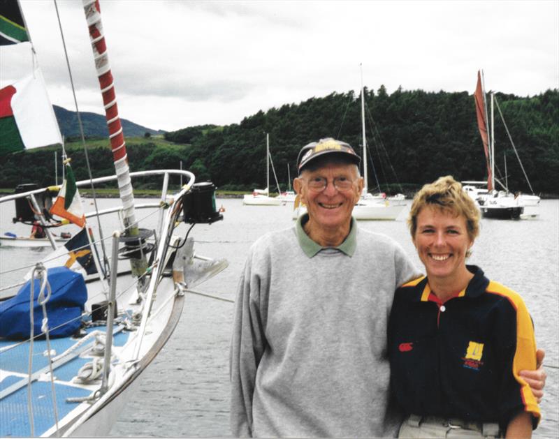
[[[522,298],[484,272],[442,304],[427,278],[395,292],[389,320],[391,387],[408,414],[499,422],[539,407],[518,371],[535,369],[532,320]]]

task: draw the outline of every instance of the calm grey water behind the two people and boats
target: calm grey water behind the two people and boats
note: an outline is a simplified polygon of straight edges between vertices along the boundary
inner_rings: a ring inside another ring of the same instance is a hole
[[[89,200],[87,200],[89,202]],[[115,200],[100,200],[101,207]],[[198,254],[227,258],[229,267],[197,290],[235,298],[238,278],[249,246],[270,230],[292,224],[289,207],[248,207],[242,200],[217,200],[225,207],[225,220],[196,225],[191,236]],[[537,438],[556,438],[559,431],[559,200],[542,201],[541,215],[532,221],[482,220],[481,236],[470,262],[483,267],[488,277],[521,293],[535,322],[539,347],[546,350],[548,379],[543,421]],[[138,214],[138,217],[146,213]],[[0,232],[29,233],[13,225],[13,205],[1,206]],[[150,218],[152,223],[157,218]],[[416,257],[405,225],[398,221],[361,221],[363,228],[383,232]],[[103,223],[108,235],[115,224]],[[68,227],[69,231],[75,232]],[[0,271],[16,263],[31,262],[48,249],[0,248]],[[2,285],[19,274],[3,274]],[[233,304],[188,295],[182,318],[164,350],[143,373],[138,392],[112,429],[112,436],[222,437],[228,426],[228,348]]]

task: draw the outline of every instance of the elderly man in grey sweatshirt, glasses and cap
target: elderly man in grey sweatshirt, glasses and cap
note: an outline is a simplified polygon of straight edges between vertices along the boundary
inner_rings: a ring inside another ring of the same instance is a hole
[[[359,162],[338,140],[303,147],[293,186],[308,213],[249,251],[231,343],[235,436],[398,431],[386,327],[394,290],[420,273],[393,239],[351,218]]]

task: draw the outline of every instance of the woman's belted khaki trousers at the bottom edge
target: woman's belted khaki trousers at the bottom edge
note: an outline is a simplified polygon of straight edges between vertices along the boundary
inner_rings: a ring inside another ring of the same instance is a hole
[[[435,416],[409,415],[398,438],[500,438],[497,423],[467,422]]]

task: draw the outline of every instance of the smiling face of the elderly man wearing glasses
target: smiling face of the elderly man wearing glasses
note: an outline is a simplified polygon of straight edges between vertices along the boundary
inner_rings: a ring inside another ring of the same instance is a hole
[[[320,179],[327,182],[324,190],[312,187]],[[351,182],[349,188],[340,188],[342,184],[338,188],[334,186],[334,181],[344,180]],[[351,223],[351,211],[361,195],[363,178],[358,177],[355,165],[325,163],[317,170],[304,170],[293,186],[301,201],[307,204],[309,227],[335,230]]]

